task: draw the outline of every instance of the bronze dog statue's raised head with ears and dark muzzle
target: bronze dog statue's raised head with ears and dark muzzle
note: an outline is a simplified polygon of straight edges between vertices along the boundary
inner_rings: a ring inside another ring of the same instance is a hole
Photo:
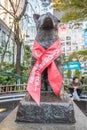
[[[58,23],[60,20],[57,19],[51,13],[46,13],[43,15],[34,14],[33,18],[36,22],[36,27],[42,30],[58,29]]]

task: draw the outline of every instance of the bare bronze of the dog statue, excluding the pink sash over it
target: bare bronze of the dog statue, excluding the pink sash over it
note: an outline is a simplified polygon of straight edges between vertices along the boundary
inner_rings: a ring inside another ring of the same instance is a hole
[[[54,15],[51,13],[46,13],[43,15],[34,14],[33,15],[34,21],[36,23],[37,34],[35,40],[44,48],[48,49],[59,37],[58,37],[58,24],[60,20],[58,20]],[[35,64],[36,59],[32,57],[32,66]],[[61,74],[63,72],[62,69],[62,60],[61,56],[56,58],[55,64]],[[42,87],[41,90],[49,91],[49,81],[48,81],[48,74],[47,68],[42,73]],[[63,85],[61,86],[60,95],[64,94]]]

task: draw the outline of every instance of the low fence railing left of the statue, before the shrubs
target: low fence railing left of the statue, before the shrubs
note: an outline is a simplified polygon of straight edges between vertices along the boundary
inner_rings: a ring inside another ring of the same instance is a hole
[[[0,85],[0,94],[26,92],[26,84]]]

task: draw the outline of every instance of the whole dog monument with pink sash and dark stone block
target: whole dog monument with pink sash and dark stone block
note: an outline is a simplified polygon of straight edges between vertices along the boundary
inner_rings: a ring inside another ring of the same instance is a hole
[[[62,49],[58,37],[59,20],[50,13],[41,16],[34,15],[34,20],[37,35],[32,49],[33,68],[27,84],[29,94],[26,94],[18,106],[16,121],[74,123],[73,104],[62,89]],[[43,84],[45,90],[48,91],[42,91],[40,95]],[[48,89],[49,84],[52,91]],[[64,100],[61,100],[60,97]]]

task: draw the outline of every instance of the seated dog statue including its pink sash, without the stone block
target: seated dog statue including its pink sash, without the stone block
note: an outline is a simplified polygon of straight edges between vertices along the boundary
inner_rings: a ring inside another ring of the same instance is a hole
[[[58,37],[58,23],[60,21],[51,13],[41,16],[34,14],[33,17],[36,22],[37,35],[33,47],[34,57],[32,57],[32,65],[34,67],[30,74],[27,90],[33,99],[38,102],[37,100],[40,100],[38,97],[38,95],[40,95],[40,81],[42,90],[45,88],[47,91],[50,82],[50,86],[56,95],[58,95],[59,91],[60,95],[63,94],[63,89],[61,89],[63,88],[61,44]],[[59,88],[58,86],[56,87],[56,82],[60,85]],[[42,86],[44,86],[44,88]],[[37,93],[36,96],[35,93],[33,93],[34,91]]]

